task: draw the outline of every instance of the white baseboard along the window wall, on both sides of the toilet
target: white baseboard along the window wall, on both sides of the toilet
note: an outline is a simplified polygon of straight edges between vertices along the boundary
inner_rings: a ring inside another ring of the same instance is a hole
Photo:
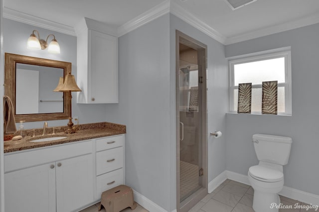
[[[227,179],[250,185],[247,175],[238,174],[238,173],[232,172],[232,171],[226,171],[226,176],[227,176]],[[212,180],[212,181],[214,181],[214,180]],[[287,186],[284,186],[283,190],[279,194],[284,196],[284,197],[288,197],[290,199],[293,199],[293,200],[298,200],[298,201],[303,202],[303,203],[319,206],[319,195],[311,194],[311,193],[304,192],[304,191],[294,189],[294,188],[290,188]]]

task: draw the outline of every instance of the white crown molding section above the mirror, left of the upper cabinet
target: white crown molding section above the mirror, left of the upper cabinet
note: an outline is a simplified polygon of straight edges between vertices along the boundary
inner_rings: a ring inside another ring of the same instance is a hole
[[[46,20],[43,18],[39,18],[33,15],[29,15],[23,12],[19,12],[14,9],[10,9],[7,7],[3,7],[3,17],[11,20],[15,20],[18,22],[30,24],[33,26],[38,26],[44,29],[61,32],[64,34],[76,36],[74,28],[71,26],[67,26],[64,24],[60,24],[54,21]]]

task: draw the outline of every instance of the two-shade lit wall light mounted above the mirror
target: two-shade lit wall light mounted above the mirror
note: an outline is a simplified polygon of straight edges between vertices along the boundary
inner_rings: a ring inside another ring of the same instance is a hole
[[[34,32],[36,32],[38,34],[37,37],[34,34]],[[48,38],[50,37],[50,35],[53,36],[53,39],[48,46]],[[42,40],[42,39],[40,39],[40,35],[39,35],[39,32],[37,30],[32,31],[32,34],[30,35],[30,37],[27,41],[27,48],[28,49],[42,49],[42,50],[48,48],[48,52],[60,54],[60,46],[59,46],[58,42],[56,41],[55,36],[53,34],[49,34],[46,37],[46,40]]]

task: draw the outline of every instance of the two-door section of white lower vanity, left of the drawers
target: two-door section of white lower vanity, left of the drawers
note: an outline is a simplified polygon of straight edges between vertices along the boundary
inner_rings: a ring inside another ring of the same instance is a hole
[[[92,141],[6,154],[4,167],[5,212],[71,212],[93,202]]]

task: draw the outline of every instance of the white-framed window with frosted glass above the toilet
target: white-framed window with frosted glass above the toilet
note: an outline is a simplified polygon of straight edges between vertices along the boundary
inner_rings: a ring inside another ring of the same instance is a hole
[[[262,82],[278,81],[278,114],[291,115],[290,47],[229,58],[230,112],[237,112],[238,84],[252,83],[251,113],[261,114]]]

